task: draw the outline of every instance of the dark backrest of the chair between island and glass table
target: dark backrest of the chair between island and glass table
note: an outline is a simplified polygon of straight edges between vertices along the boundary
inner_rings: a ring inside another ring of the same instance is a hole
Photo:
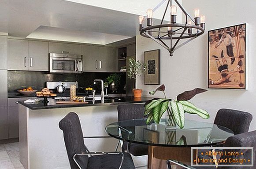
[[[118,121],[142,119],[144,117],[144,104],[122,104],[117,106]]]

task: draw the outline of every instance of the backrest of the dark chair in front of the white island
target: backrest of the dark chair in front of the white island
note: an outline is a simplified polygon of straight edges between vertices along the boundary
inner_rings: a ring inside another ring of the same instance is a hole
[[[79,169],[73,160],[76,153],[87,152],[83,140],[83,133],[79,117],[76,113],[70,112],[60,122],[59,128],[63,130],[63,137],[66,145],[67,155],[71,169]],[[77,156],[77,161],[82,169],[87,168],[89,157],[87,155]]]

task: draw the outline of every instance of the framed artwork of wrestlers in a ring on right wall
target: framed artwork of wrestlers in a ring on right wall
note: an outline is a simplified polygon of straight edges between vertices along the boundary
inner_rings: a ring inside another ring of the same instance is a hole
[[[247,88],[247,24],[208,31],[208,88]]]

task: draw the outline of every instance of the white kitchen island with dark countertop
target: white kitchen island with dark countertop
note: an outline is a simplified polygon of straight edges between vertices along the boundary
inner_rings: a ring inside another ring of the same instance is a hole
[[[145,103],[151,97],[115,97],[89,104],[48,104],[41,101],[26,104],[19,101],[20,161],[25,169],[70,169],[63,132],[59,121],[69,112],[78,114],[83,134],[107,136],[105,126],[118,120],[117,105]],[[114,138],[85,139],[90,151],[113,151],[117,144]]]

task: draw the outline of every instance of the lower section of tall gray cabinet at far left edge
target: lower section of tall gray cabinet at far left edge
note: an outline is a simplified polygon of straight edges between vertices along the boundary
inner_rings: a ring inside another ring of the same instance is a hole
[[[7,70],[0,70],[0,140],[8,138]]]

